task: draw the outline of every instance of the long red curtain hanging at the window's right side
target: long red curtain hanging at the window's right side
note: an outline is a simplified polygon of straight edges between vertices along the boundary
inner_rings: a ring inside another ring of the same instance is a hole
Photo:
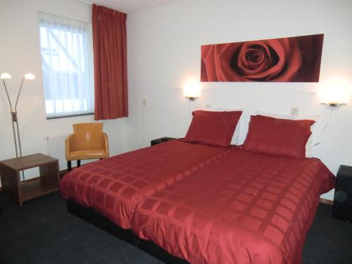
[[[125,13],[93,5],[95,120],[128,115],[126,19]]]

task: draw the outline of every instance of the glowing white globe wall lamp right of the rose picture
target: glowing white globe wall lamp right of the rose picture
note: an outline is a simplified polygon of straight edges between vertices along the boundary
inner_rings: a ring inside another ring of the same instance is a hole
[[[351,96],[351,89],[346,80],[331,79],[322,82],[318,88],[320,103],[327,108],[336,109],[348,103]]]

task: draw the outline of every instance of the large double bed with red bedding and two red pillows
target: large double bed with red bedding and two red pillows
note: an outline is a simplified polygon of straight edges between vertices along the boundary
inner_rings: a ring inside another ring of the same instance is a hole
[[[306,158],[314,120],[194,111],[184,139],[76,168],[68,211],[167,263],[296,264],[334,175]]]

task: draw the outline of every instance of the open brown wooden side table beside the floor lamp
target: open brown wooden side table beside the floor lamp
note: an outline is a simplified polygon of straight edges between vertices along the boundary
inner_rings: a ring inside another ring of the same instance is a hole
[[[37,180],[20,182],[20,171],[39,167]],[[0,161],[2,191],[22,206],[24,201],[58,190],[58,160],[42,153]]]

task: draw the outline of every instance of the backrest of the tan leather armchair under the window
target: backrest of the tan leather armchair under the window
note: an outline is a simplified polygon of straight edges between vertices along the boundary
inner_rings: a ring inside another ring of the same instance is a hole
[[[87,122],[73,124],[73,131],[80,148],[103,147],[103,124],[99,122]]]

